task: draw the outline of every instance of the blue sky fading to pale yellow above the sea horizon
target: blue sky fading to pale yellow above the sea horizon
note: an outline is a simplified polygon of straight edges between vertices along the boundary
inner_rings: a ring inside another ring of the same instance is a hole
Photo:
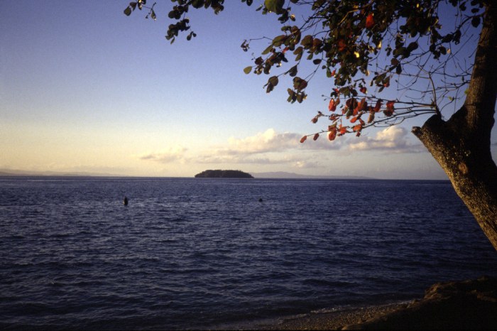
[[[260,1],[259,1],[260,2]],[[290,80],[266,94],[245,75],[245,39],[280,34],[274,15],[226,1],[191,11],[192,29],[165,40],[170,1],[125,16],[129,1],[0,0],[0,169],[192,177],[206,169],[388,179],[446,179],[410,133],[427,116],[361,137],[300,143],[327,111],[318,72],[302,104]],[[251,45],[252,46],[252,45]],[[286,83],[286,85],[285,85]],[[497,155],[493,129],[493,156]]]

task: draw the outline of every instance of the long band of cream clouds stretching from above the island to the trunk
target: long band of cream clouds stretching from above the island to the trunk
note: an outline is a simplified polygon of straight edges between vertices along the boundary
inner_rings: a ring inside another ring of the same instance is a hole
[[[391,126],[379,131],[374,138],[337,139],[328,141],[325,134],[320,139],[307,139],[300,143],[301,134],[278,133],[268,129],[254,136],[243,139],[229,138],[224,146],[206,146],[193,153],[182,146],[170,147],[165,151],[146,153],[138,156],[143,161],[158,163],[200,163],[200,164],[257,164],[287,165],[292,168],[318,168],[327,161],[329,155],[324,150],[341,150],[340,153],[358,151],[388,151],[393,153],[419,153],[422,145],[412,144],[408,140],[408,130],[399,126]],[[316,158],[312,151],[320,150]],[[317,160],[317,161],[314,161]]]

